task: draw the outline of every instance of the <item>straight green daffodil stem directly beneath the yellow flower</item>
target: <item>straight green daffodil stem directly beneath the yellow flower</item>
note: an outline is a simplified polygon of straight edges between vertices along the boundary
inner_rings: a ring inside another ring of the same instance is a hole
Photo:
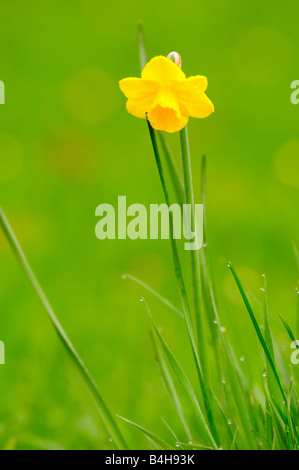
[[[192,232],[195,233],[195,230],[196,230],[195,205],[194,205],[191,159],[190,159],[190,151],[189,151],[187,126],[185,126],[180,131],[180,143],[181,143],[181,154],[182,154],[183,175],[184,175],[184,185],[185,185],[185,202],[191,208],[190,224],[191,224]],[[201,298],[199,250],[190,250],[190,255],[191,255],[191,268],[192,268],[193,295],[194,295],[198,350],[199,350],[200,361],[202,364],[203,377],[205,380],[207,380],[208,367],[207,367],[206,342],[205,342],[205,334],[204,334],[204,322],[202,318],[203,305],[202,305],[202,298]]]

